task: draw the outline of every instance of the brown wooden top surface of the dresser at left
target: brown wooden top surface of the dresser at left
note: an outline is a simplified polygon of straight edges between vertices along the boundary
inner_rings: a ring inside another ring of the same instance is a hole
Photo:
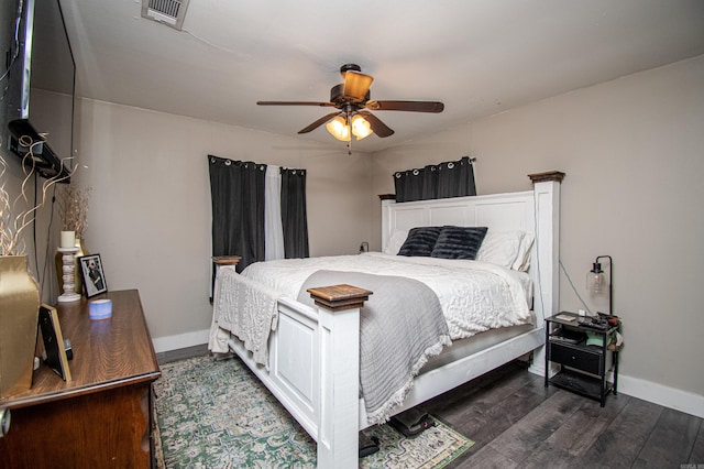
[[[102,298],[112,301],[109,319],[90,319],[86,298],[56,306],[63,336],[70,340],[74,353],[68,362],[73,381],[65,382],[42,364],[34,371],[32,388],[0,399],[0,406],[24,407],[154,381],[161,375],[139,292],[109,292],[91,299]]]

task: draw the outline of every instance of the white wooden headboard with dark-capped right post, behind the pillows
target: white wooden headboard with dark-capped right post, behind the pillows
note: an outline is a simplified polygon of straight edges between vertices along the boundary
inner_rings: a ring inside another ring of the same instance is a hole
[[[546,175],[558,174],[558,177]],[[534,177],[537,176],[537,177]],[[560,182],[563,173],[531,175],[534,190],[454,197],[397,204],[382,201],[382,250],[391,236],[415,227],[454,225],[488,227],[490,230],[521,230],[535,236],[529,273],[534,281],[537,320],[558,312]]]

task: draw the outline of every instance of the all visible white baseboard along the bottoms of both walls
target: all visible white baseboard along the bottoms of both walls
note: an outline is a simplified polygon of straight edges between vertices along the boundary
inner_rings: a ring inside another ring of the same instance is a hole
[[[158,337],[152,339],[152,342],[154,343],[154,350],[161,353],[208,343],[209,335],[210,330],[204,329],[178,336]],[[540,367],[540,364],[544,367],[544,361],[534,362],[530,371],[535,374],[543,375],[544,368]],[[612,381],[612,379],[613,377],[609,373],[607,380]],[[618,392],[704,418],[704,396],[698,394],[623,374],[618,377]]]

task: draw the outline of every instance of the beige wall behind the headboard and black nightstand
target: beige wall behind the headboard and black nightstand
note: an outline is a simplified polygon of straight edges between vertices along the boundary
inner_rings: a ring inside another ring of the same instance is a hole
[[[376,153],[372,187],[393,192],[394,171],[464,154],[479,159],[480,194],[526,190],[529,173],[565,172],[560,258],[585,301],[592,262],[614,258],[622,373],[703,396],[703,130],[704,56]],[[378,219],[375,209],[375,233]],[[562,309],[581,307],[564,274],[560,292]]]

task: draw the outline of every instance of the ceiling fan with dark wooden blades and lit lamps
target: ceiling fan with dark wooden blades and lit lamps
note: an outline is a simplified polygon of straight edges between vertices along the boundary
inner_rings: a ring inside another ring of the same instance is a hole
[[[260,106],[320,106],[338,110],[321,117],[298,133],[308,133],[327,122],[328,132],[338,140],[351,141],[376,133],[381,138],[394,134],[394,131],[382,122],[373,111],[413,111],[442,112],[444,105],[438,101],[376,101],[370,99],[370,86],[374,78],[362,73],[356,64],[340,67],[344,83],[330,89],[330,101],[256,101]]]

